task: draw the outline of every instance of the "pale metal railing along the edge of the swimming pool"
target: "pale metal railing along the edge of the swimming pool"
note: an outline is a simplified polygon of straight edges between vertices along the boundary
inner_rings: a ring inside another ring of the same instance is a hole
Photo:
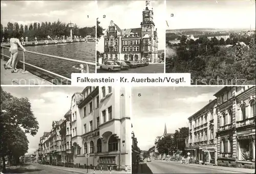
[[[8,48],[8,49],[9,49],[10,47],[2,46],[2,45],[1,45],[1,47],[2,47],[2,53],[1,53],[1,55],[2,55],[3,60],[4,60],[4,57],[8,57],[8,58],[10,59],[11,57],[9,57],[9,56],[7,56],[7,55],[4,55],[4,48]],[[36,54],[36,55],[41,55],[41,56],[46,56],[46,57],[51,57],[51,58],[56,58],[56,59],[61,59],[61,60],[67,60],[67,61],[70,61],[70,62],[76,62],[76,63],[80,63],[80,64],[85,64],[85,65],[86,65],[86,72],[87,72],[87,73],[90,72],[89,65],[96,66],[95,63],[85,62],[85,61],[81,61],[81,60],[74,60],[74,59],[70,59],[70,58],[64,58],[64,57],[59,57],[59,56],[47,55],[47,54],[36,53],[36,52],[31,52],[31,51],[26,51],[26,53],[32,53],[32,54]],[[47,72],[47,73],[49,73],[49,74],[52,74],[53,76],[56,76],[56,77],[58,77],[58,78],[65,79],[65,80],[68,80],[68,81],[71,82],[71,79],[70,79],[70,78],[67,78],[67,77],[65,77],[65,76],[61,76],[60,74],[54,73],[54,72],[49,71],[49,70],[46,70],[46,69],[44,69],[44,68],[39,68],[39,67],[37,67],[37,66],[35,66],[35,65],[26,63],[26,62],[25,62],[25,52],[23,52],[23,61],[19,61],[19,62],[23,63],[23,71],[24,71],[24,72],[26,71],[26,70],[25,70],[25,65],[28,65],[28,66],[31,66],[31,67],[33,67],[33,68],[39,69],[39,70],[44,71],[44,72]]]

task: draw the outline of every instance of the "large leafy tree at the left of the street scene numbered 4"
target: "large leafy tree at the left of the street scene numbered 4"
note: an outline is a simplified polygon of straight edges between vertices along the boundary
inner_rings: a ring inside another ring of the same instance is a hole
[[[25,133],[32,136],[38,131],[38,121],[31,111],[31,104],[28,98],[18,98],[5,92],[1,87],[1,157],[5,169],[5,157],[13,155],[12,152],[26,152],[26,139],[20,132],[23,128]],[[22,148],[17,148],[18,138],[22,139]],[[20,155],[20,154],[18,154]],[[17,157],[16,157],[17,158]]]

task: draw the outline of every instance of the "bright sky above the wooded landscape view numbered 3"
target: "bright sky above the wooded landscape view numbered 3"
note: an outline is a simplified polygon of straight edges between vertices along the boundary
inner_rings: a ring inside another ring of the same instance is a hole
[[[189,28],[255,29],[255,0],[167,1],[169,30]],[[174,14],[174,17],[170,17]]]

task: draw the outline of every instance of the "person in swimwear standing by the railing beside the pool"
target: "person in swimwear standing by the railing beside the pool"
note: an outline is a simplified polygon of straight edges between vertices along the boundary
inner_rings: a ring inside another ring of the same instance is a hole
[[[8,60],[8,62],[5,64],[5,69],[11,69],[12,72],[18,72],[17,69],[17,63],[18,63],[18,45],[23,49],[24,52],[26,52],[26,49],[22,46],[22,44],[19,41],[20,34],[19,32],[16,32],[14,37],[10,39],[10,49],[9,52],[11,54],[11,58]],[[12,64],[12,66],[11,66]]]

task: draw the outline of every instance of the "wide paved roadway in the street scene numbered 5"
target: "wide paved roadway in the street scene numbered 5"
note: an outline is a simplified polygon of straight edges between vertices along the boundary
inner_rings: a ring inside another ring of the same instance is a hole
[[[140,173],[254,173],[254,169],[232,168],[199,164],[152,160],[143,165]]]

